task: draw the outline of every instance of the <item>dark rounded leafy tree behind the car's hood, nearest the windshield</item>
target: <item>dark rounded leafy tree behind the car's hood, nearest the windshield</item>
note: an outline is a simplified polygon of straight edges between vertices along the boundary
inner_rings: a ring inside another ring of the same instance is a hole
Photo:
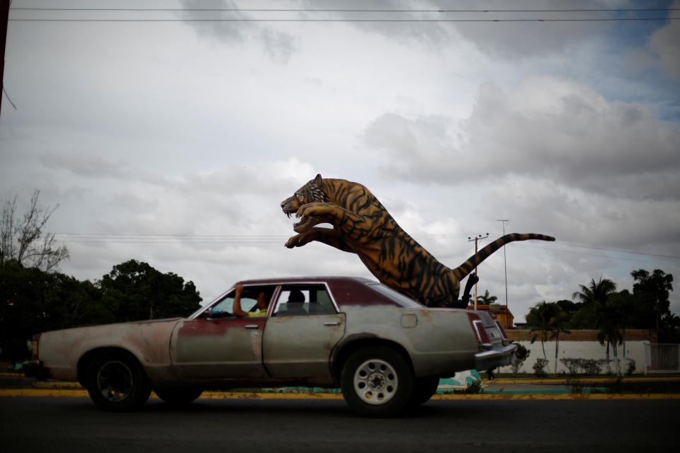
[[[193,282],[136,260],[113,266],[98,285],[103,304],[119,322],[187,316],[201,301]]]

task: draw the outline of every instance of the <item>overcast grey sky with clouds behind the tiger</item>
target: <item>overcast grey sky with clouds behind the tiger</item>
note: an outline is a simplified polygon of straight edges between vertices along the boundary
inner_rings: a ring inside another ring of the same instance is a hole
[[[153,11],[109,9],[126,7]],[[366,185],[452,268],[498,219],[555,236],[506,247],[516,321],[593,278],[680,276],[680,21],[629,20],[680,18],[679,0],[11,8],[0,193],[59,205],[64,273],[134,258],[205,301],[249,277],[370,277],[321,243],[283,246],[280,201],[321,173]],[[543,11],[496,11],[527,9]],[[505,302],[503,251],[479,273]]]

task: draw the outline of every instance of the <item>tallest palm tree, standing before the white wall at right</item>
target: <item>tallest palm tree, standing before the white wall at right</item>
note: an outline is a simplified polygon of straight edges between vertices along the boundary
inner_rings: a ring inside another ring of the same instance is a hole
[[[601,345],[604,345],[604,340],[607,341],[607,363],[609,363],[609,344],[612,345],[614,352],[614,359],[616,363],[616,374],[619,372],[618,367],[618,352],[617,345],[623,343],[623,335],[621,334],[621,326],[623,325],[623,316],[621,314],[621,306],[614,304],[612,295],[616,292],[616,283],[608,278],[600,276],[599,282],[592,279],[590,284],[586,287],[581,287],[580,292],[574,292],[572,298],[577,297],[586,305],[592,305],[595,308],[595,326],[599,329],[597,339]]]

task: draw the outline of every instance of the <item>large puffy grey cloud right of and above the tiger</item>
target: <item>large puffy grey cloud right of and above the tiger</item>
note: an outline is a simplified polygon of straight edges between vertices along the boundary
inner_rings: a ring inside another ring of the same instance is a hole
[[[504,175],[634,199],[677,200],[679,128],[636,103],[608,102],[587,86],[528,79],[512,93],[480,88],[470,117],[378,117],[365,142],[381,149],[385,171],[455,184]]]

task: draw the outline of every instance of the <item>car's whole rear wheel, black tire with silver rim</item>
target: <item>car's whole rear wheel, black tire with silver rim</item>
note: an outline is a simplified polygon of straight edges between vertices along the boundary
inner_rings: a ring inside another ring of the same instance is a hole
[[[360,349],[345,362],[341,389],[348,406],[361,415],[398,415],[413,389],[411,367],[399,352],[386,346]]]

